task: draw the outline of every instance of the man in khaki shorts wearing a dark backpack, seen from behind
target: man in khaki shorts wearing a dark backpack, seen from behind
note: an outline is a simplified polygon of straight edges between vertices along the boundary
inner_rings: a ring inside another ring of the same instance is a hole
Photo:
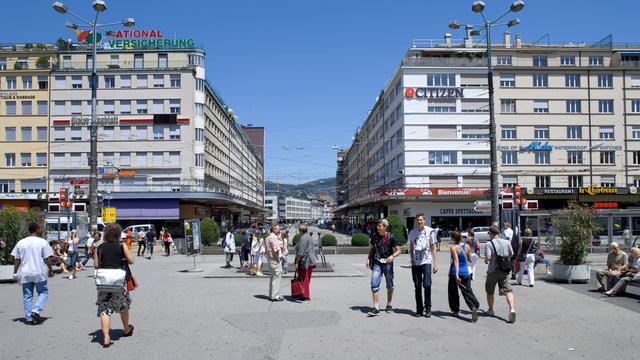
[[[487,315],[494,316],[493,310],[494,294],[496,285],[498,286],[498,294],[505,296],[509,305],[509,317],[507,322],[516,321],[515,296],[513,289],[509,283],[510,266],[509,259],[513,256],[513,248],[511,243],[500,238],[500,228],[497,225],[491,225],[489,228],[489,237],[491,240],[485,245],[485,264],[487,267],[487,279],[485,282],[485,291],[487,292]]]

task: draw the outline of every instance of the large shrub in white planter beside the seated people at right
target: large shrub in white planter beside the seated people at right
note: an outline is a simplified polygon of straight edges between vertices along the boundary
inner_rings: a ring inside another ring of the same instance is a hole
[[[589,244],[593,234],[598,233],[596,210],[571,203],[553,217],[553,226],[562,238],[560,258],[552,264],[554,280],[589,281],[591,266],[587,263]]]

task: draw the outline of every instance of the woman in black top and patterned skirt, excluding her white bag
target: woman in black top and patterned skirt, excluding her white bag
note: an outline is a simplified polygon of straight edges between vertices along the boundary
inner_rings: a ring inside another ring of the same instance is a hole
[[[98,247],[96,268],[126,269],[127,264],[133,264],[133,256],[129,248],[120,243],[122,228],[115,223],[109,223],[104,228],[104,242]],[[125,288],[123,292],[98,291],[98,316],[104,335],[102,346],[109,347],[113,344],[109,336],[111,314],[120,313],[122,319],[123,336],[133,335],[133,325],[129,324],[129,307],[131,298]]]

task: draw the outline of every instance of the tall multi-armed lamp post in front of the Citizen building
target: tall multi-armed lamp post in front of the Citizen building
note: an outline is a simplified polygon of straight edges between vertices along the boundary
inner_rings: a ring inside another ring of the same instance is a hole
[[[482,16],[482,24],[471,25],[467,24],[465,28],[469,31],[468,35],[480,35],[481,31],[486,32],[487,39],[487,79],[489,81],[489,143],[490,143],[490,156],[491,156],[491,223],[499,225],[500,212],[498,208],[498,146],[496,143],[496,115],[493,99],[493,64],[491,61],[491,28],[494,26],[507,25],[512,27],[520,23],[519,19],[514,19],[506,22],[499,22],[503,17],[509,13],[515,13],[524,8],[524,1],[518,0],[511,4],[511,7],[507,12],[493,21],[488,21],[484,16],[484,2],[474,1],[471,5],[471,10],[475,13],[480,13]],[[452,21],[449,23],[450,29],[459,29],[460,22]]]

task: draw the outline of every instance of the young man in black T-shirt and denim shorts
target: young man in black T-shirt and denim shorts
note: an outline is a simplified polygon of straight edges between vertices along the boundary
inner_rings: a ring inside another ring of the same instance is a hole
[[[371,296],[373,298],[373,309],[369,311],[369,316],[380,314],[378,305],[380,298],[380,282],[384,275],[387,285],[387,306],[385,311],[390,314],[393,311],[391,301],[393,300],[393,260],[400,255],[400,247],[396,243],[393,234],[388,232],[389,221],[380,219],[376,226],[376,234],[371,237],[371,249],[365,266],[371,269]]]

